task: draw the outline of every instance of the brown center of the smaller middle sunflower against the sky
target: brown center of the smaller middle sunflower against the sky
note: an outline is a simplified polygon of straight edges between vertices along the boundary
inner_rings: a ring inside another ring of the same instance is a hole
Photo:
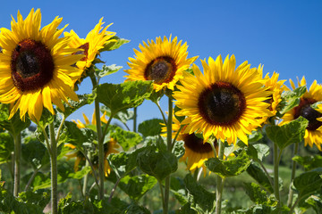
[[[177,66],[174,59],[169,56],[160,56],[150,62],[144,71],[144,78],[154,80],[156,84],[171,82],[174,78]]]

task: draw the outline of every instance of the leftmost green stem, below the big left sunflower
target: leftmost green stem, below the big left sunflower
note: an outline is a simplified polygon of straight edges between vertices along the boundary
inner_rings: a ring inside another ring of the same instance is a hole
[[[13,196],[17,197],[20,189],[20,177],[21,177],[21,133],[13,136],[13,139],[14,139]]]

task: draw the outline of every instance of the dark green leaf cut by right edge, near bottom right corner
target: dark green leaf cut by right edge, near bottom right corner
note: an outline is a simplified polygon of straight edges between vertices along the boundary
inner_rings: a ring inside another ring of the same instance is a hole
[[[321,190],[322,186],[322,168],[302,173],[295,177],[293,185],[299,191],[299,198],[315,193]]]

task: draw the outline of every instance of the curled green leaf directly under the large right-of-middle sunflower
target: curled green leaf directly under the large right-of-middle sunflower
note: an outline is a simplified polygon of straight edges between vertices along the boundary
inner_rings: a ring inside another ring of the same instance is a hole
[[[205,161],[205,164],[210,171],[220,177],[233,177],[240,175],[250,166],[250,158],[246,151],[242,151],[236,158],[229,161],[211,158]]]

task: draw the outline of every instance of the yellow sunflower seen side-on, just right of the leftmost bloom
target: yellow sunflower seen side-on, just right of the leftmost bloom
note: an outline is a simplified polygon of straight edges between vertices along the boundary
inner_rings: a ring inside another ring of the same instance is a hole
[[[81,70],[86,70],[92,65],[92,62],[96,59],[99,51],[104,48],[104,45],[114,42],[115,33],[107,31],[113,23],[107,25],[104,29],[102,25],[104,24],[103,18],[101,18],[94,29],[89,31],[89,34],[85,39],[78,37],[78,35],[71,30],[71,32],[64,32],[65,37],[72,37],[69,46],[72,48],[80,48],[82,51],[76,52],[75,54],[85,55],[76,66]]]

